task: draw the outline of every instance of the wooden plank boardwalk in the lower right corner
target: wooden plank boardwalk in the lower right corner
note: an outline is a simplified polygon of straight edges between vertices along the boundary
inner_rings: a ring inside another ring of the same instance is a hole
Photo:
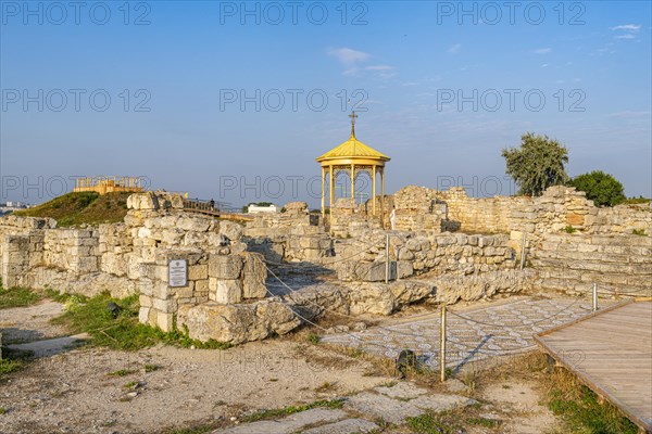
[[[652,433],[652,303],[624,302],[535,341],[641,430]]]

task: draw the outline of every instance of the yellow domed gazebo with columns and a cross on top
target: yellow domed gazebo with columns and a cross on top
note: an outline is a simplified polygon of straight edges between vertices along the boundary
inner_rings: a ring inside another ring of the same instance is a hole
[[[389,157],[367,146],[355,138],[355,112],[351,118],[351,137],[339,146],[316,158],[322,164],[322,215],[326,214],[326,174],[329,175],[329,207],[335,203],[335,178],[341,171],[348,173],[351,179],[351,197],[355,200],[355,178],[360,173],[367,173],[372,178],[372,210],[376,215],[376,175],[380,174],[380,208],[385,212],[385,163]]]

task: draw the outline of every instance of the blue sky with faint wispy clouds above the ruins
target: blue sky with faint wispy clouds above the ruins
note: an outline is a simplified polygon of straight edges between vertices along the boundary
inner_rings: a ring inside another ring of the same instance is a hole
[[[124,4],[0,2],[0,201],[127,175],[316,206],[352,104],[389,192],[511,194],[501,149],[534,131],[652,195],[650,2]]]

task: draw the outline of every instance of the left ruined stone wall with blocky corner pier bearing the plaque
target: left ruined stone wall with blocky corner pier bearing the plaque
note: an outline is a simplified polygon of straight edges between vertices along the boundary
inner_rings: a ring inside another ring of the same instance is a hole
[[[141,322],[163,331],[186,326],[196,339],[240,343],[299,324],[289,307],[266,298],[263,257],[246,251],[239,225],[185,213],[175,197],[153,193],[134,194],[127,205],[123,224],[99,227],[65,229],[52,219],[0,219],[3,284],[87,296],[138,293]],[[188,260],[184,288],[168,284],[172,258]],[[206,331],[195,308],[222,318],[222,328]]]

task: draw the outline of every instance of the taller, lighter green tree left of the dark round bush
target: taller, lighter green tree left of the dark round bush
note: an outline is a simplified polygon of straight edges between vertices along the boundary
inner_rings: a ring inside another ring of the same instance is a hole
[[[568,150],[548,136],[527,132],[521,137],[519,148],[502,150],[506,174],[518,184],[518,194],[539,196],[551,186],[564,184],[568,175]]]

